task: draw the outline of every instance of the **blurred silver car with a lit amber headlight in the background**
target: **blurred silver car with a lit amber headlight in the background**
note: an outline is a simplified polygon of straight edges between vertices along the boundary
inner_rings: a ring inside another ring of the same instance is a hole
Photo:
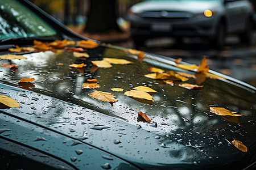
[[[135,46],[152,37],[206,37],[222,48],[228,34],[251,42],[253,6],[246,0],[146,0],[128,11]]]

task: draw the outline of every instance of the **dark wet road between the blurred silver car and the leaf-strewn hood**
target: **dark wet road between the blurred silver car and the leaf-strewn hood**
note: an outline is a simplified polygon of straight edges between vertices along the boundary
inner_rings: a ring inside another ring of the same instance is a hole
[[[256,87],[256,31],[253,40],[253,45],[248,46],[240,44],[238,37],[229,36],[224,49],[214,50],[210,49],[207,41],[198,38],[183,39],[182,44],[175,44],[175,40],[170,38],[151,39],[146,42],[146,47],[139,48],[139,50],[172,58],[182,58],[183,61],[196,65],[199,65],[203,56],[207,56],[210,69]],[[132,40],[113,45],[134,48]]]

